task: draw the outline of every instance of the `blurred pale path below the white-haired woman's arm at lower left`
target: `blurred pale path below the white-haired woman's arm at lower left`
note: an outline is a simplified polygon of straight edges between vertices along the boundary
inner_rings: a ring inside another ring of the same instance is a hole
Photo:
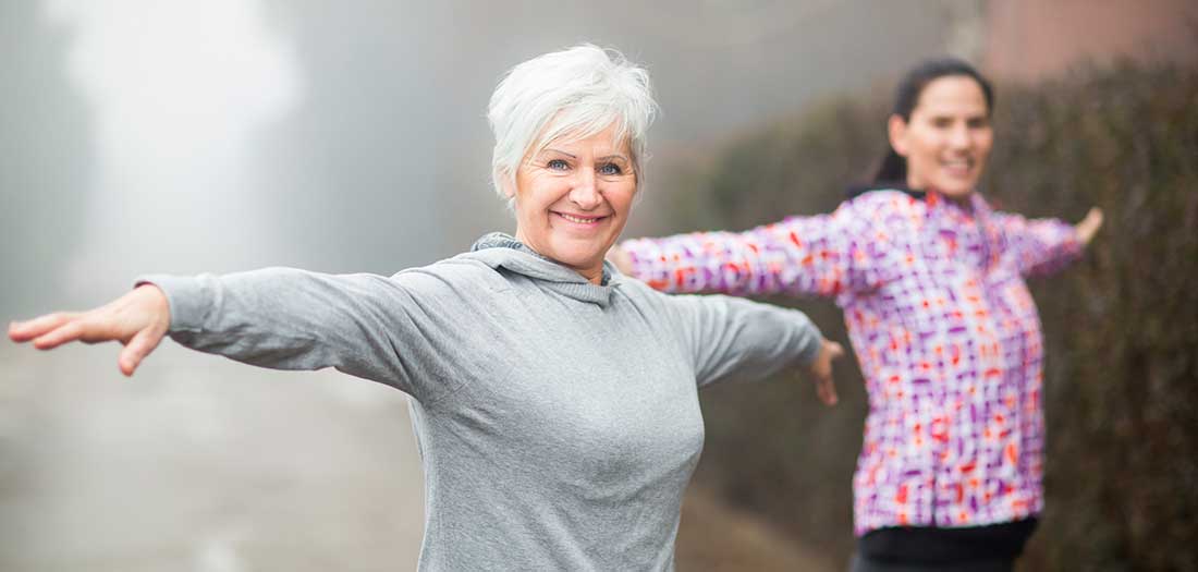
[[[0,570],[415,570],[422,472],[405,397],[167,342],[0,343]]]

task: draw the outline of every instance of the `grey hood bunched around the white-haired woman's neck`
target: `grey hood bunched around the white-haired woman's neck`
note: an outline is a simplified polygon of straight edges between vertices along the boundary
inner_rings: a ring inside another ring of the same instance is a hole
[[[492,269],[504,269],[537,281],[545,289],[563,296],[599,305],[611,303],[622,276],[611,263],[603,263],[603,284],[595,285],[571,269],[550,260],[506,233],[490,233],[474,241],[467,258],[479,260]]]

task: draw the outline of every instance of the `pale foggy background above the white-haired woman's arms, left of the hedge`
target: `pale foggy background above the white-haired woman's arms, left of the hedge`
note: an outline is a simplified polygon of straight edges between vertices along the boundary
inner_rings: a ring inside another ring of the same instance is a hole
[[[653,74],[668,157],[943,52],[945,10],[925,4],[5,2],[2,263],[20,279],[0,311],[93,303],[146,271],[426,264],[512,227],[484,114],[513,65],[623,50]]]

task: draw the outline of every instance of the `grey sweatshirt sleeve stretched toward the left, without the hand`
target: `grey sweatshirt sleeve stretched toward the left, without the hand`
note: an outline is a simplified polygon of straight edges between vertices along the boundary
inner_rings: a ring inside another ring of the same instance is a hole
[[[146,276],[170,303],[170,337],[190,349],[273,369],[337,368],[422,402],[452,392],[454,347],[436,308],[446,290],[419,271],[391,278],[264,269]]]

